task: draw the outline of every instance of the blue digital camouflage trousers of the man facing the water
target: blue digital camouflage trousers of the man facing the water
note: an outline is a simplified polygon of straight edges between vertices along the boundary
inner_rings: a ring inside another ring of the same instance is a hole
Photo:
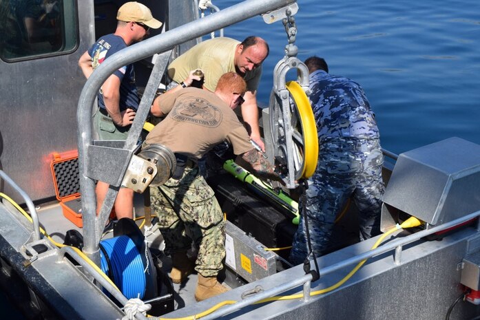
[[[308,217],[312,249],[327,250],[337,214],[353,198],[359,214],[359,239],[379,234],[384,182],[384,157],[378,139],[331,138],[320,142],[315,173],[300,196],[300,223],[293,237],[291,262],[301,264],[309,250],[304,214]]]

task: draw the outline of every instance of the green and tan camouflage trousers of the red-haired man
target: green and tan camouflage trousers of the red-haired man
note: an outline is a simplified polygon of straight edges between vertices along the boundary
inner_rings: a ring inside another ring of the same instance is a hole
[[[198,248],[195,270],[215,277],[225,257],[225,221],[213,190],[198,167],[185,168],[180,180],[170,178],[150,187],[151,208],[165,239],[165,253]]]

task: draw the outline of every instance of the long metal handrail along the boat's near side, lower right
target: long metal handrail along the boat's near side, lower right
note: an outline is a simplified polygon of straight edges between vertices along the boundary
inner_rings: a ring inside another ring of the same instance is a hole
[[[426,237],[428,235],[431,235],[433,233],[437,233],[439,231],[444,231],[448,228],[451,228],[452,226],[458,226],[459,224],[462,224],[463,222],[467,222],[469,220],[474,219],[475,217],[478,217],[480,215],[480,211],[476,211],[474,213],[470,213],[469,215],[466,215],[464,217],[459,217],[456,220],[452,220],[450,222],[447,222],[445,224],[441,224],[440,226],[435,226],[433,228],[429,228],[423,231],[419,231],[417,233],[413,233],[412,235],[407,235],[406,237],[402,237],[399,239],[392,240],[391,242],[388,242],[388,244],[384,244],[383,246],[380,246],[379,248],[373,249],[373,250],[368,250],[365,253],[361,253],[359,255],[355,255],[355,257],[351,257],[348,259],[345,259],[341,262],[337,262],[336,264],[332,264],[331,266],[326,266],[324,268],[321,268],[319,270],[320,275],[322,277],[333,273],[337,270],[340,270],[342,268],[345,268],[346,266],[351,266],[353,264],[357,264],[358,262],[361,262],[364,259],[368,259],[371,257],[375,257],[376,255],[381,255],[382,253],[386,253],[390,250],[396,250],[397,248],[401,248],[402,246],[406,244],[410,244],[412,242],[415,242],[423,237]],[[401,230],[401,229],[399,229]],[[477,231],[480,231],[480,223],[477,224]],[[321,259],[321,258],[318,258]],[[293,288],[297,288],[300,286],[300,284],[303,284],[304,286],[304,292],[309,292],[310,290],[310,281],[312,279],[312,276],[310,274],[304,275],[303,277],[300,277],[298,279],[295,279],[293,281],[286,282],[284,284],[280,284],[280,286],[275,286],[274,288],[271,288],[269,290],[264,290],[260,292],[257,295],[253,295],[250,297],[247,297],[246,299],[243,299],[242,301],[239,301],[237,303],[231,304],[229,306],[225,306],[219,310],[216,310],[215,312],[212,312],[211,314],[208,314],[206,317],[202,317],[204,320],[209,320],[209,319],[216,319],[218,317],[222,317],[226,314],[229,314],[231,312],[235,312],[243,308],[244,306],[249,306],[255,302],[258,302],[262,299],[265,299],[267,297],[274,297],[275,295],[278,295],[278,293],[285,292],[286,290],[290,290]]]

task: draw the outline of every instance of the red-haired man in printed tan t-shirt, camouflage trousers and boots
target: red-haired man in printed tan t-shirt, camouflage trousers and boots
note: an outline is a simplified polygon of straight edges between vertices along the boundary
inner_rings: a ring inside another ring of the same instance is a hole
[[[160,143],[174,151],[180,170],[162,186],[150,188],[151,207],[159,219],[165,253],[171,255],[172,281],[180,283],[193,272],[194,262],[187,257],[187,250],[192,241],[198,248],[197,301],[227,289],[217,281],[225,257],[225,222],[196,162],[226,141],[249,164],[248,169],[277,178],[271,164],[253,149],[247,130],[233,111],[242,104],[246,89],[238,74],[228,72],[220,77],[215,92],[191,87],[158,96],[152,105],[152,114],[165,118],[148,134],[145,144]]]

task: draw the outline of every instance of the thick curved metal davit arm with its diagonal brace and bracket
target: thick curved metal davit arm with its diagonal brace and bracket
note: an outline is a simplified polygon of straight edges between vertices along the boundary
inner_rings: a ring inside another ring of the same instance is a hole
[[[154,54],[167,52],[176,45],[186,41],[196,39],[199,36],[209,34],[215,30],[225,28],[233,23],[244,21],[251,17],[266,12],[271,12],[278,8],[284,8],[293,0],[247,0],[238,3],[235,6],[225,8],[220,12],[209,14],[207,17],[186,23],[178,28],[169,30],[162,34],[146,39],[140,43],[131,45],[116,54],[110,56],[95,72],[88,78],[85,87],[81,92],[77,109],[78,122],[78,148],[79,148],[79,174],[80,189],[82,195],[82,213],[83,213],[83,251],[96,264],[100,264],[100,250],[98,243],[103,230],[103,224],[107,220],[109,211],[111,211],[121,184],[121,179],[127,169],[129,159],[137,147],[138,138],[143,127],[143,123],[149,113],[149,107],[152,105],[154,93],[160,84],[158,81],[151,81],[152,76],[145,87],[145,93],[138,107],[132,128],[129,130],[129,136],[122,149],[107,145],[95,145],[92,140],[92,105],[94,99],[103,82],[115,70],[134,63]],[[155,67],[154,67],[155,69]],[[160,70],[160,68],[158,68]],[[154,70],[155,71],[155,70]],[[161,78],[158,75],[156,78]],[[95,201],[95,180],[101,180],[110,184],[109,191],[105,197],[101,211],[96,217]]]

